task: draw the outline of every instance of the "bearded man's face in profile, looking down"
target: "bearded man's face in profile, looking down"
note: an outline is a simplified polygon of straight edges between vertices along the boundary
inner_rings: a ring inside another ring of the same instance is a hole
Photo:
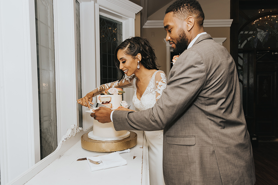
[[[174,53],[182,53],[189,45],[189,40],[183,27],[184,22],[173,16],[173,12],[169,12],[164,17],[163,25],[167,31],[166,40],[172,45]]]

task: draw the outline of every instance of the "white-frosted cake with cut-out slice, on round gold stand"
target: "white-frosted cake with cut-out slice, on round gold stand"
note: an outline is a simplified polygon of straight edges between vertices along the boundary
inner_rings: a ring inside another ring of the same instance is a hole
[[[122,101],[122,95],[98,95],[97,103],[101,103],[112,110],[117,109]],[[113,122],[99,123],[94,120],[93,131],[88,137],[94,140],[111,141],[127,138],[130,132],[127,130],[116,131]]]

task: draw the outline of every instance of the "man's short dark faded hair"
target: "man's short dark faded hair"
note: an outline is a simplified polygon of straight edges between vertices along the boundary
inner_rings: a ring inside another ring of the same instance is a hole
[[[200,3],[196,0],[177,0],[167,8],[165,14],[169,12],[173,12],[173,16],[180,19],[193,16],[199,26],[204,23],[204,12]]]

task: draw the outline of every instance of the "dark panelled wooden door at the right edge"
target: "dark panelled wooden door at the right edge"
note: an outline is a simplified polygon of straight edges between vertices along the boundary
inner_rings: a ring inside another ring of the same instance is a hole
[[[257,51],[255,77],[255,132],[278,136],[277,51]]]

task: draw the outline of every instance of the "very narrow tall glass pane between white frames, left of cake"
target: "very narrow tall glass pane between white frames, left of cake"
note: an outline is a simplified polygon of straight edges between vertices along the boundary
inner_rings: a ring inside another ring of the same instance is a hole
[[[80,5],[78,1],[75,1],[76,8],[76,45],[77,45],[77,81],[78,81],[78,99],[82,98],[81,90],[81,44],[80,44]],[[78,104],[79,114],[79,127],[83,126],[82,122],[82,106]]]

